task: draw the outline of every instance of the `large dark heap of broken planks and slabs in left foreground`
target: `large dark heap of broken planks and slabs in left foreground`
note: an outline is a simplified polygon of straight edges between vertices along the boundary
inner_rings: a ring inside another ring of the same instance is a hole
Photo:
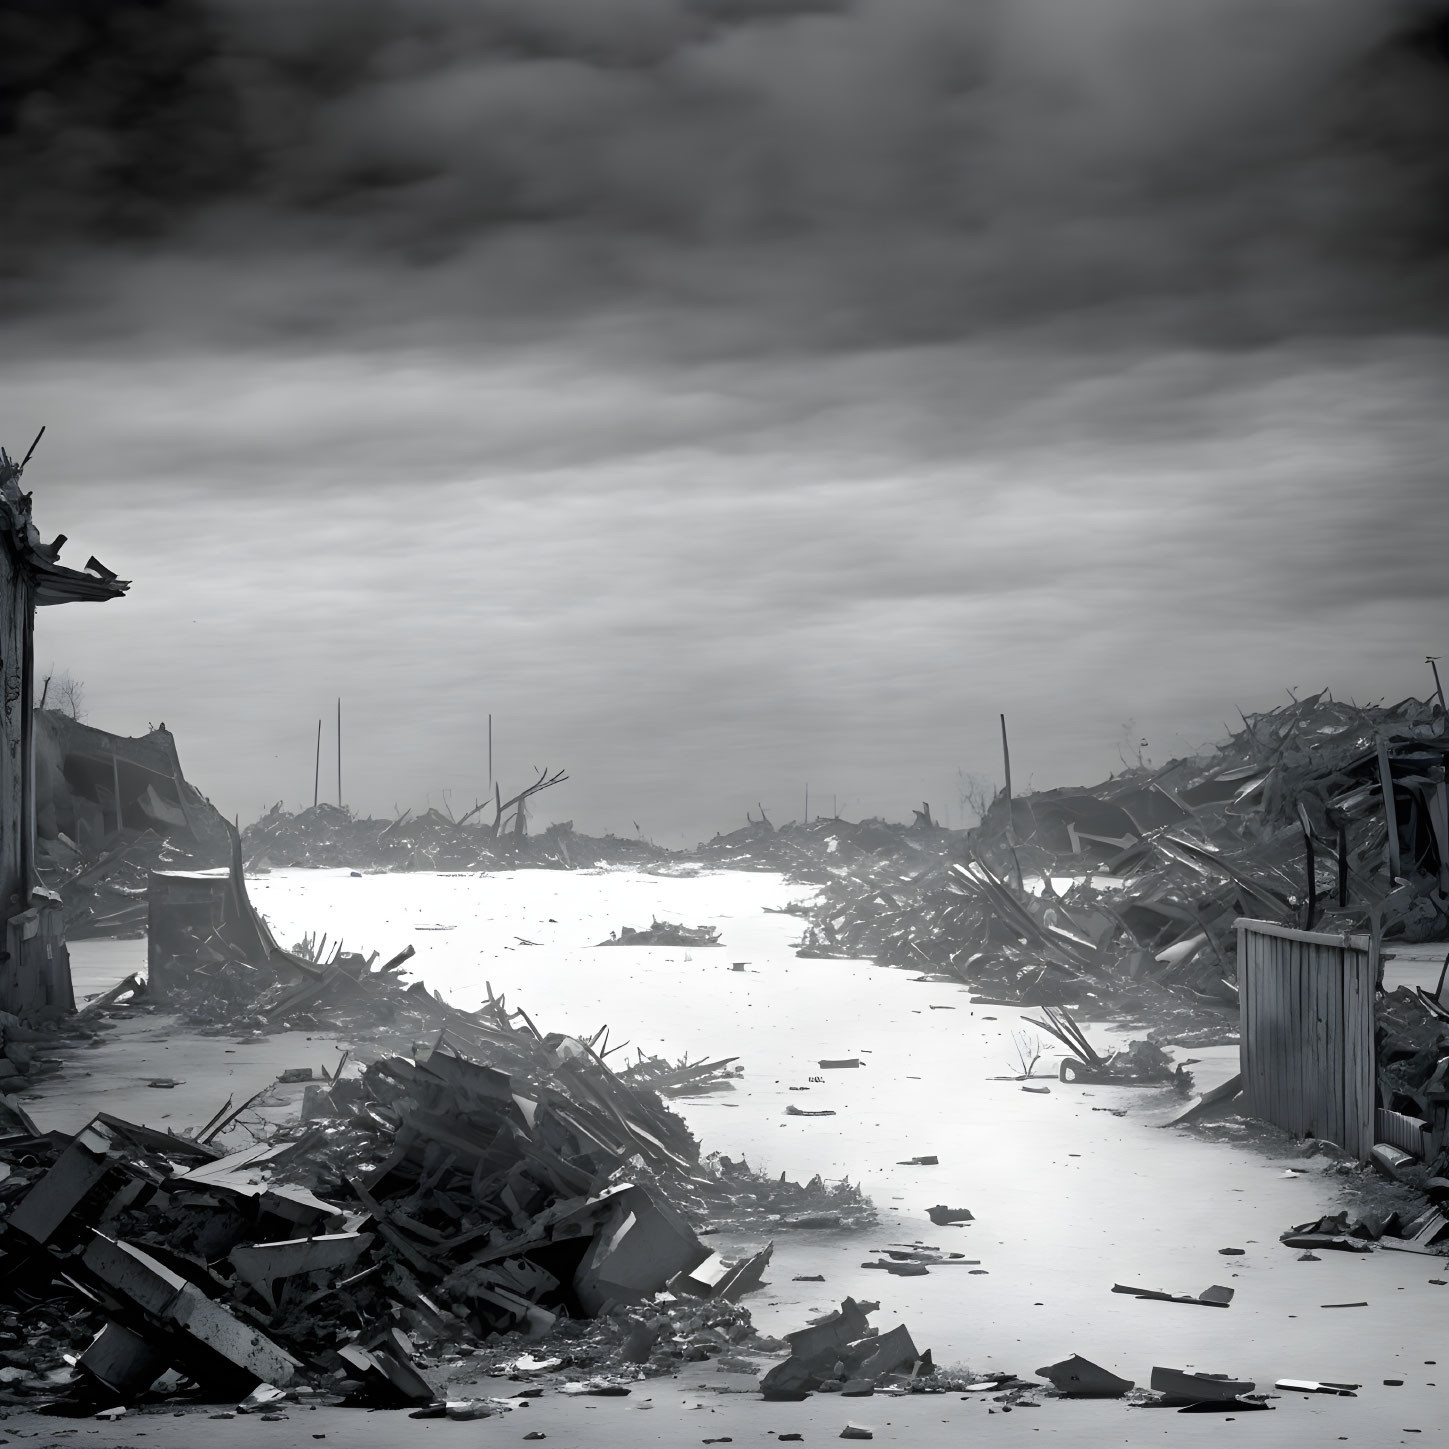
[[[159,1385],[262,1404],[310,1385],[422,1406],[445,1361],[511,1333],[625,1378],[667,1372],[755,1342],[735,1304],[772,1253],[726,1262],[693,1224],[874,1217],[846,1184],[701,1156],[652,1061],[614,1072],[501,1001],[436,1006],[430,1046],[323,1074],[300,1123],[238,1151],[217,1142],[249,1103],[188,1133],[106,1113],[41,1133],[12,1110],[0,1297],[49,1317],[9,1355],[0,1401],[94,1410]],[[729,1065],[684,1064],[675,1082]]]

